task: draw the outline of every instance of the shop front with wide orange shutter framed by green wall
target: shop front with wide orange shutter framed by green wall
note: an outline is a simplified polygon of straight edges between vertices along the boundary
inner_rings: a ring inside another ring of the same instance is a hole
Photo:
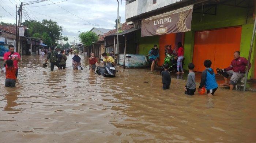
[[[248,7],[248,4],[251,6]],[[204,60],[210,59],[214,71],[216,68],[226,68],[234,59],[235,51],[240,51],[241,56],[248,59],[254,21],[253,5],[255,1],[251,0],[237,5],[231,1],[209,4],[204,5],[204,9],[210,10],[203,15],[200,12],[202,7],[194,9],[191,31],[184,34],[185,65],[193,62],[195,71],[202,72],[205,69]],[[254,54],[252,52],[249,79],[255,79]],[[184,68],[187,69],[187,66]]]

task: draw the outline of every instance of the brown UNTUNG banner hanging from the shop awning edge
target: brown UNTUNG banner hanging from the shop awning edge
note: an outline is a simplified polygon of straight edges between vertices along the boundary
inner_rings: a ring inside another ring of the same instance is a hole
[[[142,19],[141,36],[191,31],[193,5]]]

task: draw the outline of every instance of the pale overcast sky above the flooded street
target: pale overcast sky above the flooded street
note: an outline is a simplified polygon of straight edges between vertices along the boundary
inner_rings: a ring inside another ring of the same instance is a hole
[[[32,0],[0,0],[0,5],[15,17],[14,4],[20,4],[20,1],[26,2]],[[58,7],[56,4],[52,4],[51,1],[82,19]],[[89,31],[91,28],[97,26],[99,28],[114,29],[114,21],[117,19],[116,0],[67,0],[58,3],[60,1],[64,0],[48,0],[26,5],[25,11],[33,20],[42,21],[42,19],[52,19],[57,21],[57,23],[63,27],[62,34],[68,36],[68,41],[74,41],[74,37],[76,37],[77,43],[79,42],[78,31]],[[119,15],[121,16],[121,23],[124,23],[125,1],[119,1]],[[35,7],[40,5],[46,6]],[[15,23],[14,17],[10,16],[4,9],[0,7],[0,20],[3,19],[5,23]],[[1,16],[3,16],[2,19]],[[23,15],[22,21],[27,18]]]

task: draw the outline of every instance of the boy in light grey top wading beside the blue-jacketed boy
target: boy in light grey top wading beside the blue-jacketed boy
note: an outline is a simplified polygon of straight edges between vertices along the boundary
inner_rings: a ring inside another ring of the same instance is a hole
[[[184,88],[185,94],[187,95],[194,95],[196,91],[196,82],[195,82],[195,72],[193,72],[193,69],[195,68],[195,65],[193,63],[188,64],[189,74],[188,74],[188,82]]]

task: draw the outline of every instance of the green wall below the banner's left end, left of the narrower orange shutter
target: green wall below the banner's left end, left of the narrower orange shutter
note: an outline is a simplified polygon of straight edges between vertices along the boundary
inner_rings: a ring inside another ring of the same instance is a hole
[[[139,43],[139,55],[148,55],[148,51],[157,44],[159,47],[159,36],[141,37],[140,31],[136,33],[137,42]]]

